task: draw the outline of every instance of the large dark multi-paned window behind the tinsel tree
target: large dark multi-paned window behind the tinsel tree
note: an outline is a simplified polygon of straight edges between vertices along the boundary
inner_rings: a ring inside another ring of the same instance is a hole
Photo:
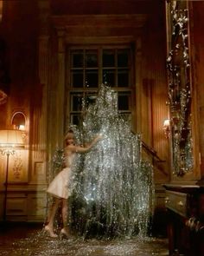
[[[80,124],[83,99],[94,102],[102,83],[118,92],[118,111],[131,121],[132,66],[129,46],[67,49],[67,121]]]

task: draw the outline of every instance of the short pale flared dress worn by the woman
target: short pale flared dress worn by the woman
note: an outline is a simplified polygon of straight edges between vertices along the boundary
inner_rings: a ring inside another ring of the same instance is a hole
[[[48,194],[52,194],[57,198],[67,199],[71,194],[71,175],[72,175],[72,163],[74,154],[66,157],[66,167],[61,170],[59,174],[54,177],[54,180],[50,182],[48,186]]]

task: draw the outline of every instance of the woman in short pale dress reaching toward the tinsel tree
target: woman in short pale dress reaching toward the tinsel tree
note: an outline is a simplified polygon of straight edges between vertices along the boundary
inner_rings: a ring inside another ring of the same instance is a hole
[[[61,172],[56,175],[54,180],[49,184],[48,187],[48,194],[52,194],[54,196],[54,204],[51,209],[51,212],[49,214],[48,219],[48,225],[45,226],[45,231],[48,232],[50,237],[56,238],[57,234],[54,233],[54,216],[55,213],[61,206],[61,215],[62,215],[62,222],[63,222],[63,228],[61,229],[61,235],[64,235],[68,237],[68,228],[67,228],[67,198],[71,194],[71,191],[69,190],[70,187],[70,177],[71,177],[71,171],[72,171],[72,163],[73,158],[76,153],[86,153],[88,152],[99,139],[101,138],[100,135],[98,135],[92,143],[89,145],[86,145],[86,147],[80,147],[76,146],[74,144],[74,135],[73,131],[69,130],[66,137],[65,137],[65,165]]]

